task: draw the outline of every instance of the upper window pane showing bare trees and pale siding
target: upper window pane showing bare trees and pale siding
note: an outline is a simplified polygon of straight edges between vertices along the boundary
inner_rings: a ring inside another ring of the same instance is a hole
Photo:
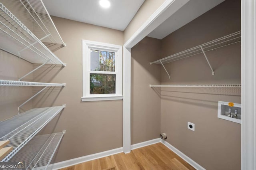
[[[116,53],[91,50],[91,71],[115,71]]]

